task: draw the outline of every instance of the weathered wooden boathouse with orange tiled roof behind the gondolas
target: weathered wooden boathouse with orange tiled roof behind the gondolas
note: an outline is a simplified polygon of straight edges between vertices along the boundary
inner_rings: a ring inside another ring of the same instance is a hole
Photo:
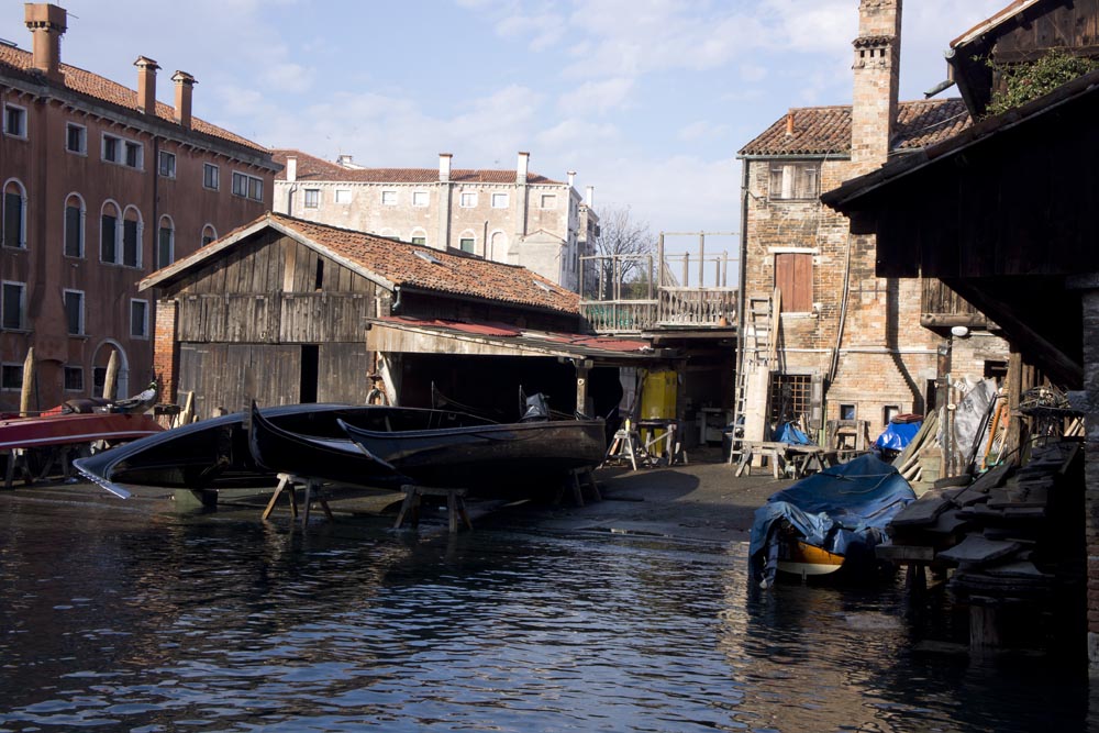
[[[513,413],[520,387],[603,414],[621,396],[618,365],[668,356],[587,336],[577,295],[526,268],[282,214],[140,288],[156,292],[166,398],[193,392],[199,417],[253,397],[422,407],[433,389]]]

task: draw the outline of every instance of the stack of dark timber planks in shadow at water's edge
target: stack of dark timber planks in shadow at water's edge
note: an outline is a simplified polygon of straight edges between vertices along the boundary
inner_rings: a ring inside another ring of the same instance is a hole
[[[1054,590],[1081,580],[1078,441],[1035,446],[1021,468],[996,466],[966,486],[950,481],[893,518],[879,556],[952,570],[947,589],[974,606],[1053,603]]]

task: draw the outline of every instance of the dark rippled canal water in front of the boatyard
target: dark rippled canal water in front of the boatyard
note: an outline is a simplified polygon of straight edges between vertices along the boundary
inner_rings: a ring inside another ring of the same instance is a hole
[[[739,543],[129,507],[0,492],[0,731],[1088,730],[1079,668]]]

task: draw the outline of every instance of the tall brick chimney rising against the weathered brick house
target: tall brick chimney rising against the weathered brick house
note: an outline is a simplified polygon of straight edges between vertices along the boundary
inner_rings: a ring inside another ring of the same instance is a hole
[[[900,80],[901,0],[859,0],[851,109],[851,176],[889,157]]]

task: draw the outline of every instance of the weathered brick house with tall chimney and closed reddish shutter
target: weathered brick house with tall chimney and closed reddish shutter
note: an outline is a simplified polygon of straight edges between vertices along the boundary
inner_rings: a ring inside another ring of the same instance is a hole
[[[814,433],[854,420],[873,438],[893,415],[926,411],[942,333],[921,323],[972,329],[958,365],[978,378],[1007,362],[1006,345],[975,312],[964,323],[936,319],[934,301],[952,301],[937,282],[877,277],[874,236],[851,234],[819,198],[969,125],[961,99],[898,101],[900,23],[900,0],[862,0],[853,103],[791,109],[740,151],[737,402],[745,414],[757,406],[761,431],[765,420],[800,420]]]

